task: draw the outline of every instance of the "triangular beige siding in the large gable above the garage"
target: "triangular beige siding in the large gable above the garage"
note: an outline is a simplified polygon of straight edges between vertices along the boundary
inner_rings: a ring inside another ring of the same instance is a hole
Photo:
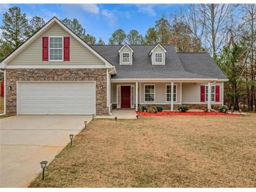
[[[70,36],[70,61],[42,61],[42,36]],[[60,27],[56,22],[50,26],[50,28],[41,34],[37,39],[29,44],[22,52],[8,62],[10,66],[21,66],[21,65],[44,65],[44,66],[67,66],[67,65],[95,65],[105,66],[96,55],[94,55],[88,48],[83,46],[77,41],[71,34],[65,29]]]

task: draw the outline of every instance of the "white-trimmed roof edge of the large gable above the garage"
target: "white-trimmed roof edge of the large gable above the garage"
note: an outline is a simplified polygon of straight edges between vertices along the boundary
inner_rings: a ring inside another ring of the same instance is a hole
[[[13,57],[15,57],[15,55],[17,55],[18,53],[20,53],[24,48],[26,48],[27,46],[29,46],[30,43],[32,43],[40,34],[42,34],[43,32],[46,32],[47,29],[49,29],[54,23],[58,23],[58,25],[60,25],[60,27],[62,27],[63,29],[65,29],[69,34],[71,34],[76,40],[78,40],[80,43],[83,44],[83,46],[85,46],[86,48],[88,48],[88,50],[90,50],[93,54],[95,54],[95,56],[97,56],[100,60],[102,60],[102,62],[105,62],[105,64],[107,64],[108,67],[112,67],[112,64],[105,59],[105,57],[103,57],[102,55],[100,55],[100,53],[97,53],[96,50],[94,50],[91,46],[89,46],[85,41],[83,41],[79,36],[77,36],[76,34],[74,34],[74,32],[72,32],[71,29],[69,29],[66,25],[64,25],[60,20],[58,20],[58,18],[56,18],[55,16],[53,18],[51,18],[45,25],[43,25],[43,27],[41,27],[41,29],[39,29],[39,31],[37,31],[35,34],[33,34],[32,36],[29,37],[29,39],[27,39],[24,43],[22,43],[20,46],[18,46],[18,48],[16,48],[15,50],[13,50],[12,53],[10,53],[7,57],[4,58],[4,60],[1,61],[1,65],[0,68],[4,68],[6,67],[6,62],[8,62],[9,60],[11,60]]]

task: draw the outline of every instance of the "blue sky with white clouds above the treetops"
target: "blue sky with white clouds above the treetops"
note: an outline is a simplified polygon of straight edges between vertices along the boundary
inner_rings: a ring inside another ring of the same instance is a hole
[[[54,15],[60,19],[76,18],[97,39],[106,43],[116,29],[137,29],[145,34],[154,26],[156,19],[165,15],[169,18],[179,11],[180,4],[0,4],[0,25],[3,13],[11,6],[19,6],[27,18],[39,15],[48,21]],[[183,5],[184,6],[184,5]]]

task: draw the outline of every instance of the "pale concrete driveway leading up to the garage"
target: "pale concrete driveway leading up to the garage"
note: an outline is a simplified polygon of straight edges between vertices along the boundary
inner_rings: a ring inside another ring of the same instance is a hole
[[[91,116],[13,116],[0,119],[0,187],[26,187],[78,134]]]

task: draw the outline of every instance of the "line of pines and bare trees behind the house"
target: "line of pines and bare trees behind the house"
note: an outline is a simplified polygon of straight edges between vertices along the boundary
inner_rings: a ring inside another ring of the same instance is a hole
[[[76,18],[61,20],[83,41],[104,45],[102,39],[86,33]],[[136,29],[116,29],[108,44],[173,44],[177,52],[208,52],[229,78],[224,83],[224,102],[246,111],[256,104],[256,5],[190,4],[168,18],[162,16],[145,35]],[[13,6],[3,14],[0,60],[45,25],[43,18],[30,20]]]

